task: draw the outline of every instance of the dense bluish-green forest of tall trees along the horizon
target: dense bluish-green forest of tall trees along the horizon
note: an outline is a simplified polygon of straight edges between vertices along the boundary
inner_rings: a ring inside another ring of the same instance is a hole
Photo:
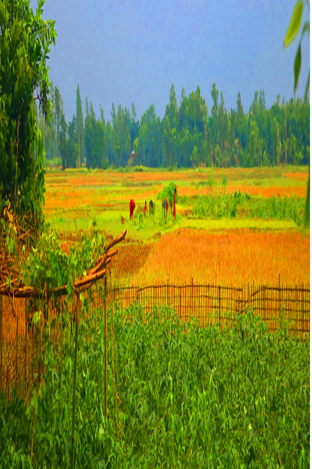
[[[213,105],[208,106],[200,88],[186,96],[181,92],[177,104],[174,84],[162,120],[152,104],[137,119],[136,109],[122,108],[114,103],[111,121],[105,122],[100,106],[96,118],[93,105],[86,97],[85,116],[82,112],[79,84],[76,91],[76,114],[66,122],[63,101],[51,84],[53,117],[50,123],[41,119],[39,127],[48,160],[61,159],[63,168],[132,166],[275,166],[308,164],[310,161],[310,103],[301,98],[289,101],[277,95],[270,109],[265,106],[264,91],[254,93],[245,112],[240,92],[237,107],[227,111],[223,93],[213,83]],[[132,151],[134,156],[131,156]]]

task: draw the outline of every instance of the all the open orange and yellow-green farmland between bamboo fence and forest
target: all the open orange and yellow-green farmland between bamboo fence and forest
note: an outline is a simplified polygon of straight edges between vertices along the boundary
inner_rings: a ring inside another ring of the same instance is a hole
[[[235,218],[194,217],[192,207],[207,194],[210,168],[160,171],[65,171],[47,169],[46,218],[61,236],[64,250],[77,240],[92,216],[98,227],[116,236],[127,228],[125,242],[110,269],[112,284],[172,281],[247,285],[255,281],[284,285],[310,282],[310,230],[290,217],[260,218],[253,207],[269,204],[273,194],[293,197],[303,206],[308,168],[278,167],[213,170],[226,193],[251,195]],[[177,217],[163,219],[157,194],[173,181],[179,194]],[[296,196],[296,197],[295,197]],[[129,220],[129,201],[136,202]],[[143,217],[145,199],[155,201],[156,216]],[[297,209],[299,210],[299,209]],[[125,222],[122,224],[121,215]],[[76,226],[75,226],[76,222]]]

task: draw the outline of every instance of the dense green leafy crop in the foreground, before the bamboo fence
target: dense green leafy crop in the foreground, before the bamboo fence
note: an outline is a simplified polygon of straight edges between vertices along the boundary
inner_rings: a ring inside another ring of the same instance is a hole
[[[148,324],[137,307],[114,310],[114,323],[111,312],[108,420],[102,309],[80,323],[77,467],[309,467],[309,340],[282,323],[271,334],[250,312],[223,332],[181,325],[167,307]],[[0,395],[2,467],[22,467],[27,454],[33,467],[69,465],[73,340],[68,322],[61,330],[29,409]]]

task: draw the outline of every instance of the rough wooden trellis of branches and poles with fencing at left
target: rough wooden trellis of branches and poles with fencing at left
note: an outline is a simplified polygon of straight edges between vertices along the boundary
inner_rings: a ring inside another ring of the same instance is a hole
[[[67,285],[48,290],[46,286],[41,288],[25,286],[22,281],[16,278],[11,282],[9,288],[7,282],[0,283],[0,393],[4,392],[7,399],[10,399],[11,389],[19,397],[28,397],[29,384],[36,385],[35,380],[40,382],[44,373],[44,362],[42,356],[42,334],[44,330],[44,318],[41,318],[35,325],[30,321],[30,315],[36,313],[38,298],[47,303],[47,315],[49,327],[51,319],[57,314],[54,302],[49,302],[52,297],[59,297],[58,310],[61,314],[66,314],[68,308],[72,309],[72,319],[75,322],[75,352],[73,371],[73,418],[72,418],[72,449],[71,467],[74,463],[74,440],[75,440],[75,410],[76,410],[76,369],[77,369],[77,348],[78,348],[78,328],[80,323],[80,293],[89,289],[92,285],[105,277],[105,416],[107,417],[107,295],[106,295],[106,272],[111,258],[116,256],[117,249],[111,250],[116,244],[123,241],[127,230],[110,242],[102,258],[97,260],[96,265],[87,271],[85,276],[73,282],[73,292],[76,295],[76,303],[68,307],[65,302]],[[30,298],[30,300],[29,300]],[[30,308],[30,302],[32,303]],[[99,297],[97,297],[99,303]],[[31,311],[32,310],[32,311]],[[73,314],[75,311],[75,316]],[[24,314],[23,314],[24,311]],[[44,308],[45,311],[45,308]],[[46,311],[45,311],[46,313]],[[55,344],[59,340],[59,330],[50,327],[51,340]],[[40,359],[41,357],[41,359]],[[22,389],[21,389],[22,386]]]

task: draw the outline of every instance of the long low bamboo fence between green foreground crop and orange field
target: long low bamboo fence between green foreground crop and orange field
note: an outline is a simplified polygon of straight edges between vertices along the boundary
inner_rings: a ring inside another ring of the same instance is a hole
[[[244,287],[193,283],[185,285],[162,284],[113,287],[108,292],[108,303],[120,302],[124,309],[138,303],[145,318],[161,305],[171,306],[181,322],[196,318],[200,325],[220,323],[233,319],[235,313],[252,309],[261,316],[271,332],[284,318],[289,331],[303,338],[310,334],[310,285],[270,286],[248,284]]]

